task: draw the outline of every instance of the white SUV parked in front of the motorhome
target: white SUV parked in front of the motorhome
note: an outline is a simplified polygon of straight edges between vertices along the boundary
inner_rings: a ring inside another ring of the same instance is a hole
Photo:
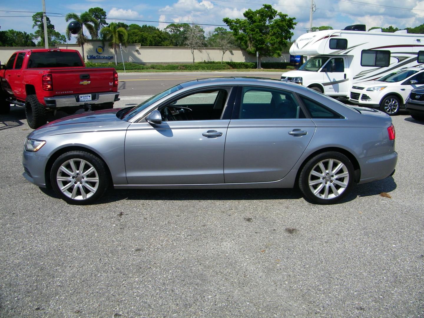
[[[355,83],[350,89],[349,101],[365,107],[379,108],[396,115],[405,107],[412,89],[424,85],[424,68],[407,67],[375,81]]]

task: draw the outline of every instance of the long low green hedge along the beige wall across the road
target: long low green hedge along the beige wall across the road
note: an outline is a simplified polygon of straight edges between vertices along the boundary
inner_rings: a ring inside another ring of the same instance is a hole
[[[86,62],[86,67],[114,67],[116,70],[123,70],[123,64],[115,65],[109,63]],[[262,62],[263,69],[291,69],[287,62]],[[255,69],[254,62],[230,62],[226,61],[221,64],[220,61],[203,61],[195,64],[137,64],[125,63],[126,70],[229,70],[229,69]]]

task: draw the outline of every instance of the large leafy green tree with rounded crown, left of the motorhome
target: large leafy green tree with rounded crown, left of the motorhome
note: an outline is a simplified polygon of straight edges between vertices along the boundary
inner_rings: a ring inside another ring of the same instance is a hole
[[[287,40],[293,36],[296,23],[295,18],[276,11],[269,4],[264,4],[258,10],[248,9],[243,13],[245,19],[224,18],[234,37],[246,47],[251,54],[259,52],[260,68],[261,56],[281,56],[282,48],[287,45]]]

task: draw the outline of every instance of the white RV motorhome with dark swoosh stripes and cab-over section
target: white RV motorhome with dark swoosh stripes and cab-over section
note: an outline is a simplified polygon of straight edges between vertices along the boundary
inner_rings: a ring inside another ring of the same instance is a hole
[[[353,83],[423,63],[417,61],[418,52],[421,61],[424,34],[407,34],[406,30],[365,31],[365,25],[351,25],[344,30],[316,31],[299,36],[290,47],[292,55],[313,57],[298,70],[283,73],[281,79],[329,96],[347,97]]]

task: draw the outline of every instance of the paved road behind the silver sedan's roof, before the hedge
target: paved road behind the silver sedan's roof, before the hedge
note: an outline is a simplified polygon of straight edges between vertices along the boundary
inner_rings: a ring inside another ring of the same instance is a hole
[[[154,95],[176,84],[208,77],[253,76],[276,78],[281,72],[119,73],[120,96]]]

